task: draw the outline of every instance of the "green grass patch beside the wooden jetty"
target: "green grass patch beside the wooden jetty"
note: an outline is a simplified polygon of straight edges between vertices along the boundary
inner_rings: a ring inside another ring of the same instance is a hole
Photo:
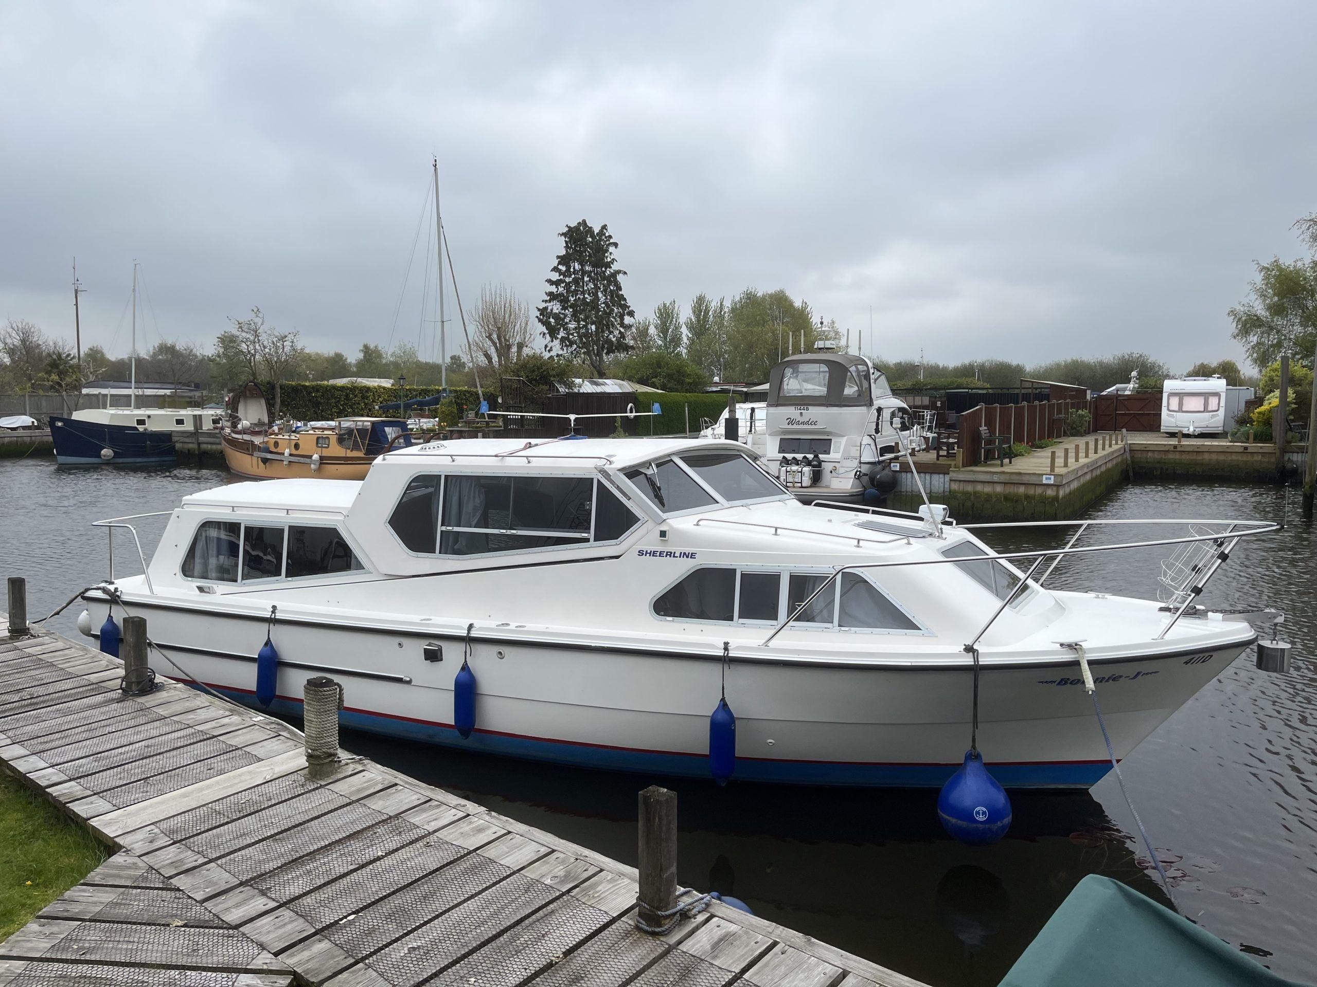
[[[45,796],[0,774],[0,940],[86,878],[108,853]]]

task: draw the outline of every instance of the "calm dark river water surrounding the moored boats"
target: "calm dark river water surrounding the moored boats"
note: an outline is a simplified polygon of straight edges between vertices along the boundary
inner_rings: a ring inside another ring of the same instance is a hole
[[[167,511],[228,482],[216,470],[59,468],[0,461],[0,572],[29,580],[34,616],[107,574],[92,520]],[[1135,807],[1184,912],[1276,973],[1317,979],[1317,575],[1297,491],[1225,484],[1125,487],[1092,517],[1272,517],[1210,584],[1216,607],[1284,609],[1295,671],[1266,675],[1251,654],[1125,761]],[[141,522],[150,557],[165,519]],[[1152,532],[1148,532],[1151,534]],[[998,541],[1002,547],[1026,542]],[[1047,542],[1054,544],[1054,542]],[[116,536],[120,572],[137,571]],[[1166,550],[1067,561],[1051,583],[1138,596],[1156,590]],[[53,621],[75,634],[79,608]],[[635,862],[635,799],[648,779],[549,769],[346,734],[344,746],[518,820]],[[986,751],[990,761],[992,751]],[[684,883],[745,899],[756,913],[934,984],[994,984],[1085,874],[1163,900],[1127,836],[1114,778],[1088,795],[1015,795],[1014,828],[990,848],[943,836],[935,792],[782,790],[676,780]],[[1141,866],[1141,863],[1143,866]]]

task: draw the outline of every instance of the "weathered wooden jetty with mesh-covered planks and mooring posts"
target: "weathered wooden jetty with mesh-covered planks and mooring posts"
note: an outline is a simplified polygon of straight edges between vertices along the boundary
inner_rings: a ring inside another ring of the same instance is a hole
[[[163,676],[125,695],[124,663],[11,612],[0,767],[117,853],[0,944],[0,987],[923,987],[718,901],[640,932],[637,880],[676,895],[661,790],[637,875],[336,742],[308,770],[300,732]]]

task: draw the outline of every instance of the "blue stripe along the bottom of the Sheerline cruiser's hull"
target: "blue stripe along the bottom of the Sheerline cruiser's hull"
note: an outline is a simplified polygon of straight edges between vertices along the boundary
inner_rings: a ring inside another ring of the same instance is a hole
[[[261,708],[250,692],[221,686],[211,686],[244,705]],[[302,703],[278,697],[270,709],[286,716],[302,716]],[[386,737],[437,744],[445,747],[475,750],[486,754],[548,761],[573,767],[593,767],[610,771],[630,771],[652,775],[685,775],[711,778],[707,757],[665,754],[649,750],[603,747],[589,744],[519,737],[489,733],[477,729],[469,740],[462,740],[452,726],[417,722],[379,713],[344,709],[338,713],[344,726]],[[773,782],[780,784],[831,784],[856,787],[926,788],[940,787],[960,765],[872,765],[820,761],[766,761],[736,758],[732,775],[741,782]],[[1027,765],[988,765],[1001,784],[1008,788],[1088,788],[1112,770],[1108,762],[1059,762]]]

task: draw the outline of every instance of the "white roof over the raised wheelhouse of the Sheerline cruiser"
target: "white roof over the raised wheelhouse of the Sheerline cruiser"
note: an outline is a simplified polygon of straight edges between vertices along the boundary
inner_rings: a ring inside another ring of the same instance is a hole
[[[456,438],[425,442],[410,449],[396,449],[381,457],[381,461],[406,459],[406,462],[415,462],[423,459],[445,463],[456,459],[473,466],[493,467],[524,466],[529,461],[541,466],[581,468],[598,463],[626,468],[674,453],[716,446],[752,455],[749,449],[740,442],[716,438]]]

